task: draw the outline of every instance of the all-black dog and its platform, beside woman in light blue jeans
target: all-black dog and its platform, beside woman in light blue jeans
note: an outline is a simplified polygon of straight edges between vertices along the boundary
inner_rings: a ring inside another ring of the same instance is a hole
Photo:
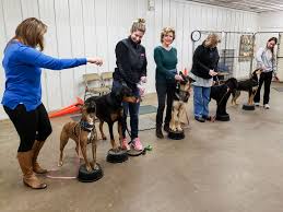
[[[216,109],[216,120],[229,120],[229,116],[226,111],[227,101],[231,94],[235,95],[237,91],[238,82],[235,78],[231,78],[221,85],[213,85],[211,87],[210,98],[216,101],[217,109]]]

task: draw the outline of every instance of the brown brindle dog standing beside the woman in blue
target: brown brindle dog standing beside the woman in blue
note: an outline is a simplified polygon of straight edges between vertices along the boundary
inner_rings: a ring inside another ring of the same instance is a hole
[[[96,168],[96,141],[97,133],[95,130],[94,119],[96,106],[95,103],[85,103],[82,106],[82,118],[80,122],[70,121],[66,123],[62,128],[60,136],[60,158],[58,166],[63,165],[63,149],[68,143],[69,139],[72,139],[76,146],[75,151],[79,155],[81,149],[82,155],[85,162],[85,167],[87,172]],[[92,143],[92,156],[93,161],[90,162],[86,155],[86,145]]]

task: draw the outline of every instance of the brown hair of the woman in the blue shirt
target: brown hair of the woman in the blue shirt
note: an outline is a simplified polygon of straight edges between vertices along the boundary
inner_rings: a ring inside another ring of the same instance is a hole
[[[12,39],[19,39],[24,45],[33,48],[39,47],[44,50],[44,34],[47,32],[47,25],[36,17],[28,17],[17,25],[15,36]]]

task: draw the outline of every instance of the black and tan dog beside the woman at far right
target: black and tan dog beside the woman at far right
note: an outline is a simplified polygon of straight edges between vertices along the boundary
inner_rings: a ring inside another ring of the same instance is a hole
[[[237,98],[240,95],[240,91],[248,92],[248,105],[253,105],[253,97],[258,91],[259,78],[262,73],[262,69],[256,69],[248,80],[238,81],[238,89],[236,93],[233,93],[232,104],[237,105]]]

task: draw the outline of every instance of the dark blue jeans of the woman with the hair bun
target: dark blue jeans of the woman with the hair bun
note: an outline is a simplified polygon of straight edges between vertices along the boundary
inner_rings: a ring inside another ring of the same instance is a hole
[[[113,82],[113,90],[120,87],[121,83],[119,81]],[[133,95],[139,96],[139,90],[134,89]],[[127,130],[127,117],[128,111],[130,113],[130,127],[131,127],[131,140],[139,137],[139,110],[140,103],[122,103],[123,117],[122,117],[122,137],[126,138]]]

